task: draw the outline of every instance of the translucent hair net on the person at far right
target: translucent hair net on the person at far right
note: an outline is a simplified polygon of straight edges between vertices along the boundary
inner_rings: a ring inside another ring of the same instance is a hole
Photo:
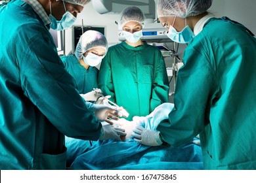
[[[211,7],[212,2],[213,0],[158,0],[158,17],[196,16]]]

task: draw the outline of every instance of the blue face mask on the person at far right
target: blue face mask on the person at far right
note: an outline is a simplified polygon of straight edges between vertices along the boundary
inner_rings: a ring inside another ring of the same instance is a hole
[[[193,31],[190,29],[188,25],[186,25],[186,27],[184,27],[184,29],[182,29],[181,32],[177,32],[173,26],[170,26],[167,36],[172,41],[179,42],[179,43],[190,42],[193,39],[193,37],[195,37]]]

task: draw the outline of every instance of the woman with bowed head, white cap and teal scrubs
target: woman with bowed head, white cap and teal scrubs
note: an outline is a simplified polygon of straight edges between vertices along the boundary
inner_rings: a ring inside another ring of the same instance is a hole
[[[75,48],[75,55],[64,56],[62,61],[72,75],[79,93],[88,93],[98,88],[98,69],[108,51],[106,37],[98,31],[89,30],[81,35]]]

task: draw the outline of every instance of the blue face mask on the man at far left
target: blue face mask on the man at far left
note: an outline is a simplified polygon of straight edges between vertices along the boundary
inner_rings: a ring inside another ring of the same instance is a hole
[[[64,8],[65,8],[66,12],[62,16],[62,19],[60,21],[58,21],[52,15],[52,7],[51,7],[51,1],[50,1],[50,11],[51,11],[51,14],[49,15],[49,18],[50,18],[50,20],[52,22],[51,28],[56,30],[56,31],[62,31],[64,29],[70,28],[75,23],[75,20],[76,20],[76,17],[71,12],[66,10],[66,6],[65,6],[64,1],[62,1],[62,2],[63,2],[63,5],[64,5]]]

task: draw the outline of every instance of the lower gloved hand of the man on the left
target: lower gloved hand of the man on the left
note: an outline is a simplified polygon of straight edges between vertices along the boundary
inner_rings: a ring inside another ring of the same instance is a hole
[[[126,133],[124,129],[113,127],[112,125],[102,125],[103,133],[100,135],[99,140],[117,139],[121,141]]]

